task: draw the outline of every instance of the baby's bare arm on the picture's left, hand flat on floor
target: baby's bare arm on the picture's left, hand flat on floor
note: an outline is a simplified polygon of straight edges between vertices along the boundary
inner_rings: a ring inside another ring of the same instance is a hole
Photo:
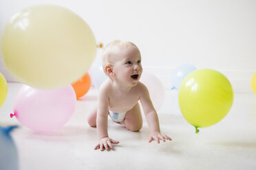
[[[108,105],[109,105],[109,98],[107,95],[107,89],[100,88],[98,103],[97,103],[97,119],[96,119],[98,145],[96,145],[94,149],[100,149],[101,151],[103,151],[104,149],[112,148],[111,143],[114,143],[114,144],[119,143],[118,141],[115,141],[109,138],[109,135],[107,133]]]

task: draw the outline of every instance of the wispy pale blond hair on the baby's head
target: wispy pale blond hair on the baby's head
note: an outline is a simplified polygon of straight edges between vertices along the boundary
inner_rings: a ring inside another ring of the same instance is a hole
[[[129,42],[126,40],[113,40],[112,42],[109,42],[109,44],[107,44],[106,47],[104,47],[103,49],[103,70],[105,71],[104,67],[106,64],[111,64],[111,56],[114,56],[116,53],[118,53],[118,50],[126,49],[128,47],[136,47],[136,49],[138,49],[138,47],[133,42]]]

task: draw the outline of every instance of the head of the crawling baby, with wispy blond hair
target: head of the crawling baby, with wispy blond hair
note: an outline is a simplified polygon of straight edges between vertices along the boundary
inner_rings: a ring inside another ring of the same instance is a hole
[[[103,70],[111,80],[136,84],[142,73],[140,50],[134,43],[114,40],[103,49]]]

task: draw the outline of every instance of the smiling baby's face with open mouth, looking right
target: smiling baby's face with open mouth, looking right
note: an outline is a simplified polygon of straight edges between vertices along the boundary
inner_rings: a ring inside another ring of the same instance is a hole
[[[115,81],[136,86],[142,74],[140,51],[134,46],[127,47],[120,49],[112,59]]]

